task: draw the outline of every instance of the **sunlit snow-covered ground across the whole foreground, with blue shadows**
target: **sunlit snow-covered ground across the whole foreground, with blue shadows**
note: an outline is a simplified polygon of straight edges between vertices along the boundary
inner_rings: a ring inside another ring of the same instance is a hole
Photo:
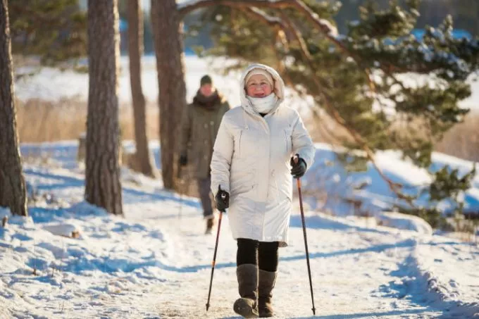
[[[0,227],[0,318],[238,318],[228,214],[206,313],[215,236],[204,235],[197,199],[123,170],[125,218],[108,215],[82,201],[75,142],[22,146],[39,149],[50,161],[25,165],[38,193],[31,218]],[[313,317],[294,207],[290,246],[280,249],[276,318],[479,315],[477,244],[307,211]],[[72,232],[76,238],[61,236]]]

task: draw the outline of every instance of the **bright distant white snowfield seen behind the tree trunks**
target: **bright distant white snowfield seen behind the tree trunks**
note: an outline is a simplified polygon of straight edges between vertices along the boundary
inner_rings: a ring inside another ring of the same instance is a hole
[[[118,95],[120,102],[130,103],[130,71],[127,56],[120,58],[120,77],[118,78]],[[205,59],[197,56],[185,56],[187,101],[191,101],[199,87],[200,78],[209,73],[219,92],[228,96],[232,106],[239,105],[239,74],[231,73],[222,75],[222,70],[228,61],[221,58]],[[28,73],[32,70],[20,69],[19,72]],[[407,85],[413,86],[416,78],[405,79]],[[147,100],[156,101],[158,96],[158,80],[156,75],[156,60],[154,56],[142,58],[142,85]],[[468,108],[479,108],[479,82],[471,81],[471,96],[461,101],[460,105]],[[287,90],[286,103],[294,106],[304,106],[304,99],[299,99],[296,94]],[[61,72],[54,68],[42,68],[32,77],[23,77],[15,82],[15,95],[22,100],[39,98],[46,101],[56,101],[61,98],[77,97],[86,101],[88,94],[88,75],[74,73],[73,71]]]

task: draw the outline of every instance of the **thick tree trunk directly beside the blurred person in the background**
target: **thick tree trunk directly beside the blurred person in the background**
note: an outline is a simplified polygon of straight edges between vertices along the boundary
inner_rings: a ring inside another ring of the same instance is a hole
[[[177,128],[181,113],[186,107],[182,23],[176,1],[151,0],[151,24],[158,69],[161,175],[164,187],[174,189]]]

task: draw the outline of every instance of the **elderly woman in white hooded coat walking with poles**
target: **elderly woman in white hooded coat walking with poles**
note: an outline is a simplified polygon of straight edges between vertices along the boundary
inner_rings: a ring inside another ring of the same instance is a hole
[[[211,190],[220,211],[229,207],[237,239],[241,298],[233,309],[245,318],[271,317],[278,247],[287,246],[290,225],[291,175],[304,175],[315,149],[298,112],[282,105],[285,84],[273,68],[250,65],[241,85],[241,107],[225,113],[216,137]]]

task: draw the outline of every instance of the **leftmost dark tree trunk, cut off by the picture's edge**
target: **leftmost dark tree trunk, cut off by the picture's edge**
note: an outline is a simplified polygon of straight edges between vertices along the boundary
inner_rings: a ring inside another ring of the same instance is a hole
[[[18,148],[7,0],[0,0],[0,206],[27,215],[25,180]]]

